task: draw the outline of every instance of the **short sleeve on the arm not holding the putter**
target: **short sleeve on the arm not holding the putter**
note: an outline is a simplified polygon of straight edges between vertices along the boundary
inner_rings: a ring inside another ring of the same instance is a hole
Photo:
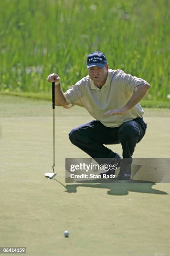
[[[131,74],[126,74],[122,70],[120,70],[117,75],[117,82],[119,82],[125,90],[128,90],[129,93],[132,93],[138,85],[147,83],[144,79],[133,77]]]

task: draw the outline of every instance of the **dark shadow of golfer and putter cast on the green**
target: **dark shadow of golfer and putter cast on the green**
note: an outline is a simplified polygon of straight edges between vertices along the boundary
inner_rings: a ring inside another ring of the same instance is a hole
[[[57,179],[55,179],[59,182]],[[109,182],[109,181],[108,181]],[[66,186],[59,182],[63,187],[65,187],[65,192],[67,193],[76,193],[77,187],[91,187],[97,189],[108,189],[107,195],[128,195],[129,192],[140,192],[140,193],[148,193],[148,194],[157,194],[157,195],[168,195],[168,193],[153,189],[152,186],[155,185],[155,182],[141,181],[141,180],[115,180],[112,183],[106,183],[101,179],[96,179],[91,181],[90,184],[87,181],[79,182],[81,184],[67,184]],[[82,184],[86,183],[86,184]],[[99,183],[99,184],[94,184]]]

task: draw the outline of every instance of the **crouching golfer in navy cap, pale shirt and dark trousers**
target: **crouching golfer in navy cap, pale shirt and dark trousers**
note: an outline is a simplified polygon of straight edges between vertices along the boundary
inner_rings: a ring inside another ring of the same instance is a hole
[[[144,111],[139,101],[150,84],[120,69],[109,69],[106,56],[100,51],[87,56],[87,70],[87,77],[65,93],[61,89],[60,77],[57,74],[48,76],[48,82],[55,82],[55,105],[86,108],[95,120],[72,129],[70,141],[93,159],[112,159],[112,164],[120,166],[118,179],[130,179],[132,155],[136,143],[146,131]],[[103,145],[117,143],[122,145],[122,159]],[[102,174],[114,172],[109,170]]]

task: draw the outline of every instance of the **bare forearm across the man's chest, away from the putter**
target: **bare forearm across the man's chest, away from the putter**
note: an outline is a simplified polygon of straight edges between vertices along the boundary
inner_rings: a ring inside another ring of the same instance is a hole
[[[130,100],[124,106],[126,111],[133,108],[140,100],[145,96],[147,91],[150,89],[150,84],[140,84],[135,88],[135,92],[133,93]]]

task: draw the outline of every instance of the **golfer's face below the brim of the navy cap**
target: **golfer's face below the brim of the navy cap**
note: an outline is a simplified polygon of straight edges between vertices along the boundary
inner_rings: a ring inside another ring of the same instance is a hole
[[[88,69],[88,74],[90,78],[93,80],[93,82],[97,86],[102,86],[103,84],[105,84],[105,81],[107,79],[107,73],[108,73],[108,65],[106,65],[106,67],[104,68],[94,66]]]

